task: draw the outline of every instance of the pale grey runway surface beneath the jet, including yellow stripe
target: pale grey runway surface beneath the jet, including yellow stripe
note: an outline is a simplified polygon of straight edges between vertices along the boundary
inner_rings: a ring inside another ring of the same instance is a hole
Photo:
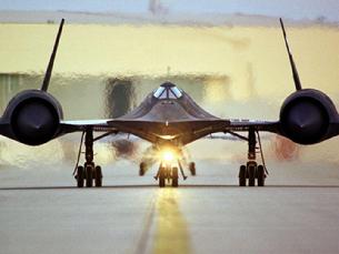
[[[238,187],[232,165],[207,165],[162,190],[129,163],[82,190],[68,169],[1,169],[0,253],[339,252],[338,170]]]

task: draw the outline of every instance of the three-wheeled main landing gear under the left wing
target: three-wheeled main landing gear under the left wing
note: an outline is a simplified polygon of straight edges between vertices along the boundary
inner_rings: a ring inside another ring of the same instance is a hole
[[[81,153],[81,145],[82,145],[82,139],[83,134],[81,138],[81,143],[80,143],[80,150],[79,150],[79,155],[78,155],[78,162],[79,162],[79,156]],[[102,186],[102,171],[100,165],[96,165],[93,162],[93,131],[92,129],[86,130],[84,132],[84,159],[86,162],[82,165],[78,165],[76,169],[76,180],[77,180],[77,186],[78,187],[83,187],[83,184],[86,183],[87,187],[93,186],[93,182],[96,187]],[[78,163],[77,163],[78,164]]]

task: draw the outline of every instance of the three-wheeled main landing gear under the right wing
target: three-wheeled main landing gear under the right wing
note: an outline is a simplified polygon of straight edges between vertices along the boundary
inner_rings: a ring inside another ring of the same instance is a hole
[[[259,136],[258,136],[259,138]],[[256,181],[258,186],[265,186],[265,180],[267,176],[267,171],[265,169],[265,161],[262,156],[261,143],[259,139],[259,149],[261,153],[261,159],[263,165],[258,165],[256,162],[256,131],[250,128],[248,132],[248,162],[246,165],[241,165],[239,170],[239,186],[246,186],[247,180],[249,186],[256,186]]]

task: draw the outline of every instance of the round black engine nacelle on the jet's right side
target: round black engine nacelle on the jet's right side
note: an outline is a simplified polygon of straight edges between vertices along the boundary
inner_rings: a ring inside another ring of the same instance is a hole
[[[303,89],[289,95],[280,110],[285,136],[299,144],[313,144],[330,138],[330,123],[337,119],[333,102],[325,93]]]

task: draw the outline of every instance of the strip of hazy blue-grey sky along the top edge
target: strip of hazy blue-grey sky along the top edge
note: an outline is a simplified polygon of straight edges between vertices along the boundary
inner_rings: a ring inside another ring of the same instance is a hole
[[[339,0],[0,0],[1,10],[148,12],[150,2],[169,13],[250,13],[339,21]]]

